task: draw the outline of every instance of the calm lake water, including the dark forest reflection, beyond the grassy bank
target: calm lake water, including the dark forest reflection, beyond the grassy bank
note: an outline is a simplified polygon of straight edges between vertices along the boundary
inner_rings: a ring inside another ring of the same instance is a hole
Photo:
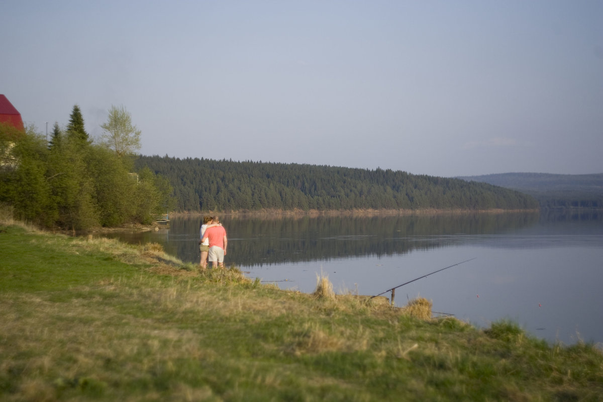
[[[548,341],[603,342],[603,216],[388,216],[241,218],[223,216],[227,265],[282,289],[313,292],[317,274],[335,291],[396,291],[397,305],[418,296],[434,312],[476,326],[510,318]],[[159,242],[198,262],[198,218],[172,219],[169,230],[112,234]],[[390,292],[384,294],[390,297]]]

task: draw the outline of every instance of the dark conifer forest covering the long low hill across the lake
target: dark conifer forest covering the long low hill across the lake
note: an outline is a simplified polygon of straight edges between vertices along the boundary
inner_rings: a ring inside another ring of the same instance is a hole
[[[134,165],[169,181],[178,212],[538,209],[536,199],[516,190],[390,169],[168,155],[139,155]]]

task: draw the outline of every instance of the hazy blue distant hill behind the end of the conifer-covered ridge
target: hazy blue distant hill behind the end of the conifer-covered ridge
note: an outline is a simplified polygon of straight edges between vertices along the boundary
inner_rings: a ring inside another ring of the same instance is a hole
[[[548,173],[501,173],[457,177],[517,190],[538,199],[544,209],[603,209],[603,173],[561,175]]]

